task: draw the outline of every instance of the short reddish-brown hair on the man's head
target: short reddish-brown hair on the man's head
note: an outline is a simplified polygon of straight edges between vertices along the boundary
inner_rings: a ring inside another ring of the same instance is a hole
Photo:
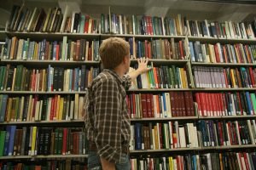
[[[110,37],[103,40],[100,47],[100,57],[105,69],[114,69],[130,52],[130,45],[120,37]]]

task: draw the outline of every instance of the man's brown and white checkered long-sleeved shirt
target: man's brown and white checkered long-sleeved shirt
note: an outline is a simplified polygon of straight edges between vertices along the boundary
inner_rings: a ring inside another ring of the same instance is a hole
[[[131,77],[119,77],[114,71],[103,70],[91,83],[85,99],[85,128],[89,141],[95,142],[97,154],[119,163],[121,148],[129,146],[131,123],[125,89]]]

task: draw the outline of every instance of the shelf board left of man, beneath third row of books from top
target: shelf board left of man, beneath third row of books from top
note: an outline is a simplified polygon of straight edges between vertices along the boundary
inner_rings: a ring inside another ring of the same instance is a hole
[[[32,92],[32,91],[0,91],[0,94],[86,94],[86,92]]]

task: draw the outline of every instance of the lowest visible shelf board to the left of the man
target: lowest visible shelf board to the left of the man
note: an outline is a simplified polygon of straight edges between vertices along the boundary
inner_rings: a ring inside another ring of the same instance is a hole
[[[33,159],[33,158],[79,158],[79,157],[88,157],[88,155],[0,156],[0,160]]]

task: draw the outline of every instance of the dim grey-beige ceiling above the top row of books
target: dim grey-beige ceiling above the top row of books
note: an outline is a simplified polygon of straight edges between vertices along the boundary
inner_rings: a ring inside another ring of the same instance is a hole
[[[189,20],[253,20],[256,17],[256,1],[244,0],[0,0],[0,29],[14,4],[26,3],[26,7],[49,8],[76,4],[80,11],[99,17],[107,14],[111,6],[117,14],[148,14],[155,16],[175,16],[183,14]],[[217,3],[216,3],[217,2]]]

